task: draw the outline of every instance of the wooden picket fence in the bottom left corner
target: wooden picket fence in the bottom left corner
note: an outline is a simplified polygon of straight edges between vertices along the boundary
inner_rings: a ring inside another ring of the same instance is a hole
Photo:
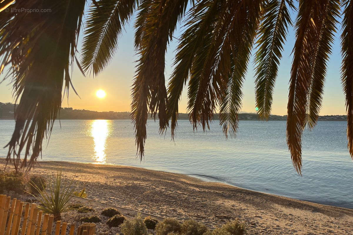
[[[24,203],[16,198],[11,200],[11,197],[0,195],[0,235],[52,235],[53,220],[54,216],[43,215],[34,203]],[[74,235],[74,224],[55,223],[55,235]],[[84,223],[77,228],[77,235],[94,235],[95,231],[95,224]]]

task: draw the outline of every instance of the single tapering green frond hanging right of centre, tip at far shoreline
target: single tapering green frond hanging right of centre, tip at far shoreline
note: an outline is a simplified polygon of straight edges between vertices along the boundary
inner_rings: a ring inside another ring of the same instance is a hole
[[[292,25],[289,9],[294,9],[292,0],[270,0],[258,32],[256,65],[256,106],[261,120],[268,120],[271,113],[273,88],[278,66],[286,41],[288,26]]]

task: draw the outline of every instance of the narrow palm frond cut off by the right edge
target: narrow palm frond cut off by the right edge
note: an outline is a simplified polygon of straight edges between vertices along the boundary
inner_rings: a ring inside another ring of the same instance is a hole
[[[343,0],[341,80],[346,96],[348,150],[353,159],[353,1]]]

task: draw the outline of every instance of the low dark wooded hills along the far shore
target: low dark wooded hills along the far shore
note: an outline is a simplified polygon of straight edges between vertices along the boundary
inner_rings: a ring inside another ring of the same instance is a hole
[[[0,103],[0,119],[13,119],[14,104],[11,103]],[[60,110],[60,119],[78,119],[78,120],[91,120],[91,119],[130,119],[130,112],[97,112],[84,109],[72,109],[62,108]],[[149,119],[153,119],[149,116]],[[187,113],[179,113],[180,120],[188,120]],[[215,120],[218,120],[218,114],[214,116]],[[258,120],[256,113],[239,113],[239,120]],[[287,115],[271,115],[269,120],[273,121],[285,121]],[[346,121],[346,115],[327,115],[320,116],[319,121]]]

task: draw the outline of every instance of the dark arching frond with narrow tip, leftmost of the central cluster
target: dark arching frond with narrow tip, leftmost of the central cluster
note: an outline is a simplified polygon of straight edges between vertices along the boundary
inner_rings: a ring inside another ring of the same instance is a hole
[[[195,57],[204,52],[204,45],[208,44],[217,14],[220,13],[221,1],[200,1],[191,8],[187,14],[187,21],[183,35],[177,48],[177,54],[173,63],[174,70],[168,84],[168,119],[171,120],[170,128],[172,138],[177,129],[178,106],[181,92],[189,79],[190,70]]]

